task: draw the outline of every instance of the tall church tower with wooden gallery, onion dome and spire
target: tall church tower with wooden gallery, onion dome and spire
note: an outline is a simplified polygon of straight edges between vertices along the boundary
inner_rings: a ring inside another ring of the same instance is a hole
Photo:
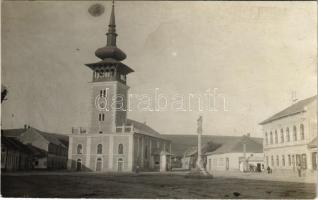
[[[108,25],[107,44],[95,51],[101,61],[86,64],[93,71],[91,124],[89,133],[107,134],[116,132],[116,126],[127,119],[127,74],[133,70],[123,64],[126,54],[116,45],[114,2]]]

